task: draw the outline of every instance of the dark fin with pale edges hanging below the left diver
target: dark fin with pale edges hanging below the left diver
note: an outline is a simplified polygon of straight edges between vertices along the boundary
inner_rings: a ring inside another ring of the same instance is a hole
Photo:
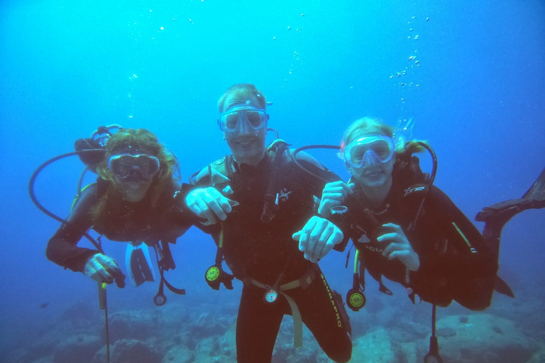
[[[127,274],[134,286],[140,286],[145,281],[155,281],[155,272],[151,264],[148,245],[141,242],[138,245],[129,242],[125,252]]]

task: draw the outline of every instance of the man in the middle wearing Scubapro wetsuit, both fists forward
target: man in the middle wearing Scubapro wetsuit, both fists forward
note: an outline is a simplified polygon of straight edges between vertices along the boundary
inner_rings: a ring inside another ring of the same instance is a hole
[[[243,281],[236,322],[237,362],[271,362],[284,315],[294,320],[294,347],[302,323],[335,362],[348,362],[350,323],[340,294],[315,262],[343,240],[341,230],[316,216],[314,196],[324,181],[303,172],[285,141],[265,147],[269,115],[265,96],[253,84],[235,84],[219,99],[219,128],[227,155],[202,169],[187,194],[200,228],[214,238],[216,263],[205,279],[213,289]],[[299,162],[322,178],[338,176],[307,154]],[[298,243],[297,243],[297,242]],[[221,266],[225,259],[233,275]]]

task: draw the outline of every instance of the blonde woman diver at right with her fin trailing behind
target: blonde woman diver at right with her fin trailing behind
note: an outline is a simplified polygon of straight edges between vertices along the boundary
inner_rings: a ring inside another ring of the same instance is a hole
[[[294,153],[305,148],[312,147]],[[422,172],[413,155],[424,150],[433,160],[431,174]],[[353,286],[346,303],[353,311],[365,306],[365,271],[385,294],[392,292],[383,284],[383,276],[402,284],[413,303],[421,299],[432,304],[430,350],[424,362],[442,362],[435,334],[436,306],[446,307],[454,300],[482,311],[490,306],[494,290],[514,297],[497,277],[500,235],[515,214],[545,207],[545,170],[522,199],[497,203],[478,214],[475,219],[486,223],[481,235],[433,185],[436,157],[426,143],[412,140],[396,145],[393,128],[361,118],[345,131],[339,156],[352,177],[348,183],[326,184],[318,211],[343,230],[345,239],[337,247],[346,247],[349,238],[356,247]]]

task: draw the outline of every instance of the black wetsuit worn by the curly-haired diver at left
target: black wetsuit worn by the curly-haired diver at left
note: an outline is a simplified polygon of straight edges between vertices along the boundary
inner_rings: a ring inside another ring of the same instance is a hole
[[[82,235],[93,228],[109,240],[119,242],[145,242],[154,245],[159,240],[175,242],[191,225],[184,213],[177,208],[173,196],[180,186],[172,184],[160,191],[157,201],[150,203],[150,193],[139,202],[131,203],[118,198],[106,201],[106,216],[93,220],[92,209],[97,206],[101,196],[106,193],[110,182],[98,179],[89,185],[77,200],[67,221],[49,240],[46,255],[48,259],[62,267],[83,272],[89,257],[99,253],[97,250],[77,247]],[[153,188],[154,185],[150,186]],[[153,208],[150,205],[154,205]],[[186,222],[187,220],[187,222]]]

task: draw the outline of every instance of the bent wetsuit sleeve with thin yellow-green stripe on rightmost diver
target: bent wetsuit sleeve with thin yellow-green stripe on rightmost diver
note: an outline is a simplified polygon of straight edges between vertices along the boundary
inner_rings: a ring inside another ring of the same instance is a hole
[[[426,216],[417,228],[426,228],[422,235],[429,238],[419,243],[419,274],[444,274],[456,279],[495,276],[497,259],[483,235],[443,191],[431,189],[424,210]]]

